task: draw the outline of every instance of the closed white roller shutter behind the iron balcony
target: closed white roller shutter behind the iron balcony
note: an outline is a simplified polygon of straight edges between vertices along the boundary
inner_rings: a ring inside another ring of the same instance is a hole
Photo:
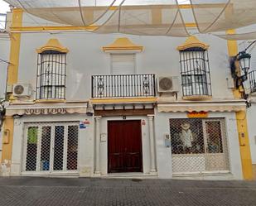
[[[111,55],[112,74],[134,74],[135,54]]]

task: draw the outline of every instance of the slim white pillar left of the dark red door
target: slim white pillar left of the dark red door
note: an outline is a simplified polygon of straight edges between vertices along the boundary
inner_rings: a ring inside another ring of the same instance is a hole
[[[100,162],[99,162],[99,141],[100,141],[100,118],[95,117],[95,170],[94,174],[100,175]]]

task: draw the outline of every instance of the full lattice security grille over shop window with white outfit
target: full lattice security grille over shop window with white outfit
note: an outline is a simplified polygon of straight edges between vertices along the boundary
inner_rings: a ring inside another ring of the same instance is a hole
[[[174,175],[229,172],[224,119],[170,119]]]

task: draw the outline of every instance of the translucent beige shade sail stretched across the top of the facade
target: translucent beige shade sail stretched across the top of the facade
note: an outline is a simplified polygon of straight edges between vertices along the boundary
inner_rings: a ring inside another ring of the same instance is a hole
[[[255,0],[5,0],[51,22],[94,25],[96,33],[148,36],[189,36],[186,23],[200,33],[215,33],[256,24]],[[182,11],[181,11],[182,10]],[[188,17],[191,14],[191,17]],[[186,21],[184,21],[186,19]],[[190,21],[190,22],[187,22]],[[249,37],[252,33],[249,31]],[[242,34],[241,38],[246,38]],[[239,34],[220,35],[239,39]]]

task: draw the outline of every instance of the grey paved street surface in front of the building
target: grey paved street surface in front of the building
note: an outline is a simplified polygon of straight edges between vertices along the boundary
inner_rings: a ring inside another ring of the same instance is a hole
[[[0,205],[256,206],[256,182],[0,178]]]

